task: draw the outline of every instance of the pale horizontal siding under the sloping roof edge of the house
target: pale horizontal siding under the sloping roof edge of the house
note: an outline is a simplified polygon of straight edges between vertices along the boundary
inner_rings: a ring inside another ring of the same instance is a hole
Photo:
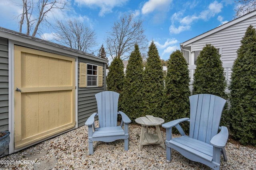
[[[233,63],[236,59],[236,51],[240,47],[240,41],[249,25],[256,27],[256,16],[192,43],[192,51],[201,51],[206,44],[211,44],[216,48],[222,48],[223,63]]]

